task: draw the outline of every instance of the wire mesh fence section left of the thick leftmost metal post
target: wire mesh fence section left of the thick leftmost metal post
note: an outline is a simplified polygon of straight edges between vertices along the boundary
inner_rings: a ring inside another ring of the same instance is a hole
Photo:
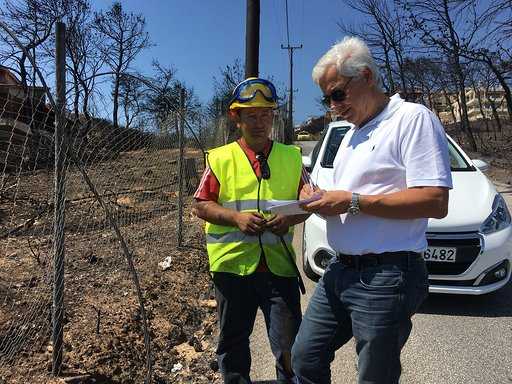
[[[46,335],[51,308],[51,173],[40,169],[51,156],[44,98],[21,98],[19,88],[0,98],[0,352],[6,363]],[[32,135],[30,127],[41,127]],[[30,180],[32,179],[32,180]]]

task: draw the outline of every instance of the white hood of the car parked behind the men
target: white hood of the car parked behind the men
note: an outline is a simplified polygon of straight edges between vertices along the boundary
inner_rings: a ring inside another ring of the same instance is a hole
[[[427,232],[478,231],[491,214],[496,189],[480,171],[452,172],[448,215],[429,219]]]

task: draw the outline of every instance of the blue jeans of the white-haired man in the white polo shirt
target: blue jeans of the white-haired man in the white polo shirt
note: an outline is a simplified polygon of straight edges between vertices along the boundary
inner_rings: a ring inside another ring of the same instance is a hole
[[[296,382],[330,383],[334,352],[354,337],[359,384],[397,384],[411,317],[428,294],[421,255],[347,267],[333,259],[317,284],[292,350]],[[349,380],[347,379],[347,382]]]

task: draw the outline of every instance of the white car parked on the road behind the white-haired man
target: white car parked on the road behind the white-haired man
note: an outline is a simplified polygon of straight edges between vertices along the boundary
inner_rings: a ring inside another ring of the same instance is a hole
[[[312,181],[330,189],[332,164],[351,124],[337,121],[303,156]],[[482,160],[471,160],[448,136],[453,189],[448,215],[429,219],[428,249],[424,258],[429,271],[430,292],[481,295],[503,287],[510,279],[512,225],[503,197],[482,173]],[[318,280],[335,252],[326,236],[326,222],[316,214],[304,224],[302,259],[304,273]]]

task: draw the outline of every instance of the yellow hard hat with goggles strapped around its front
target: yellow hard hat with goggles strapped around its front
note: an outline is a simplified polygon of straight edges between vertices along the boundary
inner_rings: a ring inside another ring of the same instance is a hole
[[[277,92],[274,84],[258,77],[249,77],[233,90],[229,109],[277,108]]]

